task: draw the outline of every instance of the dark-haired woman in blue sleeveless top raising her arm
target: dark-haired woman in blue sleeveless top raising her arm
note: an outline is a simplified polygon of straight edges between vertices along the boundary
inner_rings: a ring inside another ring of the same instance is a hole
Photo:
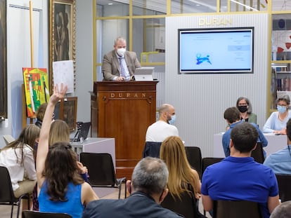
[[[98,196],[79,175],[77,156],[69,142],[56,142],[48,147],[53,110],[66,91],[67,86],[61,84],[58,90],[56,85],[46,107],[37,148],[37,192],[39,211],[65,212],[77,218],[82,217],[84,205]]]

